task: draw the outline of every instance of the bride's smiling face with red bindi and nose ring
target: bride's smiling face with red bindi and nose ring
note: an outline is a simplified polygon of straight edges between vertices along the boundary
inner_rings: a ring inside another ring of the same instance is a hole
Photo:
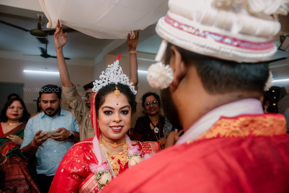
[[[131,107],[124,94],[118,98],[114,93],[105,96],[103,105],[98,110],[98,123],[101,136],[108,142],[123,140],[129,130]]]

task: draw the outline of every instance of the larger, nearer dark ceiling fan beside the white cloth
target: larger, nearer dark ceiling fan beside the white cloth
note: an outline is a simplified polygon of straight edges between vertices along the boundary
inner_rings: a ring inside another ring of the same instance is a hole
[[[43,17],[43,15],[41,14],[37,14],[37,17],[38,17],[38,24],[37,24],[37,29],[31,29],[31,30],[28,30],[28,29],[25,29],[23,27],[20,27],[20,26],[17,26],[17,25],[14,25],[12,23],[8,23],[6,21],[2,21],[0,20],[0,23],[4,23],[6,25],[9,25],[11,27],[15,27],[17,29],[21,29],[23,31],[29,31],[29,33],[32,35],[32,36],[36,36],[36,37],[46,37],[47,35],[53,35],[54,32],[55,32],[55,29],[50,29],[50,30],[42,30],[41,29],[41,19]],[[71,32],[71,31],[76,31],[75,29],[71,29],[71,28],[68,28],[68,29],[65,29],[65,32]]]

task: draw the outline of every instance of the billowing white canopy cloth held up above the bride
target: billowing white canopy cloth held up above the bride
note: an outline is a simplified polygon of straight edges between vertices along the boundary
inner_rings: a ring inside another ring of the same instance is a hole
[[[132,30],[156,23],[168,10],[168,0],[39,0],[55,28],[57,20],[95,38],[125,39]]]

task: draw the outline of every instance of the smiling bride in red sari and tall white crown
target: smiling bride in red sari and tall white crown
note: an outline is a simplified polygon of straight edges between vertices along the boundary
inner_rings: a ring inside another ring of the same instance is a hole
[[[136,112],[136,91],[118,65],[118,58],[92,89],[95,94],[90,117],[95,137],[71,147],[58,166],[49,192],[98,192],[144,155],[160,150],[159,142],[134,142],[126,135]]]

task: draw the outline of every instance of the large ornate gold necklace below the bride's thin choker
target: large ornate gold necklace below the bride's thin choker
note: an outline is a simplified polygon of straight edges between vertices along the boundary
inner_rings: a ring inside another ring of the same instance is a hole
[[[121,168],[120,164],[118,164],[117,160],[119,159],[121,164],[125,166],[125,164],[128,162],[127,160],[127,150],[128,150],[128,144],[125,140],[125,144],[123,145],[123,150],[118,153],[112,153],[110,152],[103,144],[102,140],[99,140],[100,146],[105,148],[105,151],[108,153],[108,161],[110,162],[110,165],[113,169],[113,172],[115,175],[118,175],[119,169]],[[114,159],[112,159],[114,158]]]

